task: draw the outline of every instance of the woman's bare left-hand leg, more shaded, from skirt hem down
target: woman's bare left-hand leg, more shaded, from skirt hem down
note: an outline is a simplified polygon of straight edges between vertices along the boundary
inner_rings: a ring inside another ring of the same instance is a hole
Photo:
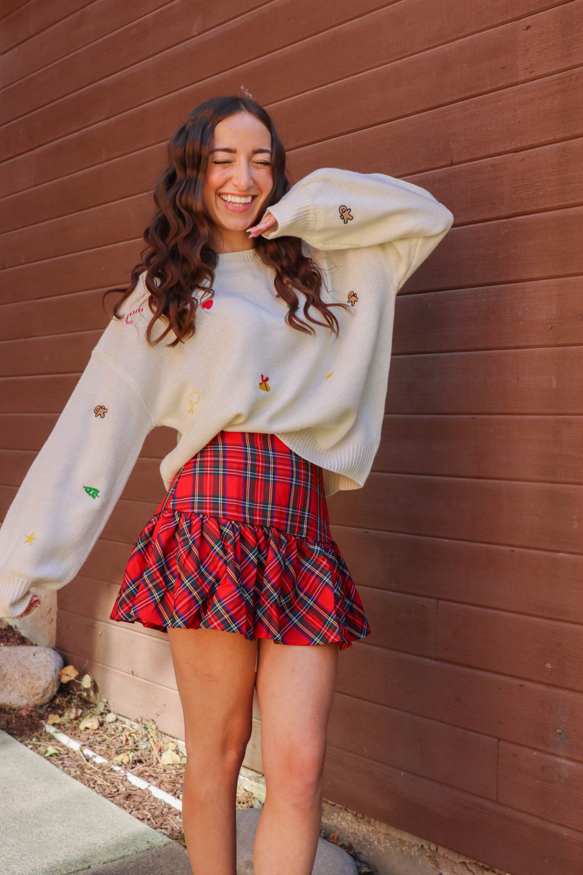
[[[257,641],[169,629],[184,711],[183,824],[193,875],[236,875],[236,794],[251,738]]]

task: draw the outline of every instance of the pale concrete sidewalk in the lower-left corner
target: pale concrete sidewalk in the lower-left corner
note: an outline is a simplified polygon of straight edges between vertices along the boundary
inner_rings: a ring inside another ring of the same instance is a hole
[[[0,730],[2,875],[192,875],[186,849]]]

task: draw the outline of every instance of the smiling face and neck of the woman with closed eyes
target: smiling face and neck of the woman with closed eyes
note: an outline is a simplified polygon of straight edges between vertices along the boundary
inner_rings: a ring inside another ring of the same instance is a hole
[[[254,247],[245,231],[273,187],[271,158],[271,135],[256,116],[237,112],[217,124],[203,193],[216,252]]]

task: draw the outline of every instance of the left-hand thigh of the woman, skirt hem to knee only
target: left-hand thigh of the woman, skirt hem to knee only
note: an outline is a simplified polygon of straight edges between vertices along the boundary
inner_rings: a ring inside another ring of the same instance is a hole
[[[251,737],[257,641],[218,629],[169,628],[189,758],[243,756]]]

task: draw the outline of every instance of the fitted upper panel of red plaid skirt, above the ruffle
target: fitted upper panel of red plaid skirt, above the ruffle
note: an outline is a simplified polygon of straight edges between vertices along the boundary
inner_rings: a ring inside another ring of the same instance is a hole
[[[331,541],[322,468],[260,431],[219,431],[177,472],[156,513],[169,509]]]

